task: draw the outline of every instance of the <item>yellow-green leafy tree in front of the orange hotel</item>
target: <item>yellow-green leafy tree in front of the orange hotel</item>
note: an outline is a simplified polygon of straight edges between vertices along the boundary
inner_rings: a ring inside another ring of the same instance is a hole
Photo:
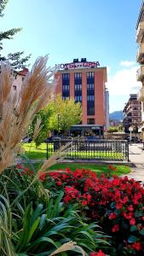
[[[49,130],[57,130],[65,133],[72,125],[77,125],[82,120],[82,108],[80,102],[75,103],[74,99],[62,100],[56,96],[51,104],[53,114],[49,118]]]

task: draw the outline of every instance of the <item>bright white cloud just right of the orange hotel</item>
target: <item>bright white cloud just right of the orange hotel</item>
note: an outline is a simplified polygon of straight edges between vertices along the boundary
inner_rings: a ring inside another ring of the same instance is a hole
[[[122,61],[121,61],[122,62]],[[124,62],[124,61],[123,61]],[[141,82],[136,81],[136,71],[138,67],[122,67],[117,73],[107,76],[107,88],[112,96],[128,96],[137,93],[141,88]]]

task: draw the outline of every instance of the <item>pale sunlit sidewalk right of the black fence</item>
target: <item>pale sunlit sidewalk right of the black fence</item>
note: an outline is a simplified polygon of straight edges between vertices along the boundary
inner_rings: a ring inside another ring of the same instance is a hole
[[[135,178],[136,181],[144,183],[144,150],[141,143],[130,144],[129,157],[130,163],[133,164],[131,172],[127,176]]]

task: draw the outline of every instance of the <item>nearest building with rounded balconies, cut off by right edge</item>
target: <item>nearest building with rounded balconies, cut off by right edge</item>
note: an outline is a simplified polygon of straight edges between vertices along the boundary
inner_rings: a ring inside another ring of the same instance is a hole
[[[138,50],[136,55],[136,61],[140,63],[140,67],[137,70],[137,81],[141,81],[141,90],[137,95],[137,100],[141,102],[141,118],[143,139],[144,139],[144,0],[141,3],[141,9],[136,24],[136,43],[138,44]]]

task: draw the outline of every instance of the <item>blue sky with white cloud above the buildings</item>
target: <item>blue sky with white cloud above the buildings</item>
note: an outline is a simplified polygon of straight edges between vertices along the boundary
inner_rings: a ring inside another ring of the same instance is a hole
[[[137,92],[135,25],[141,0],[9,0],[1,30],[23,27],[3,41],[4,53],[49,54],[49,65],[86,57],[107,66],[110,112]]]

